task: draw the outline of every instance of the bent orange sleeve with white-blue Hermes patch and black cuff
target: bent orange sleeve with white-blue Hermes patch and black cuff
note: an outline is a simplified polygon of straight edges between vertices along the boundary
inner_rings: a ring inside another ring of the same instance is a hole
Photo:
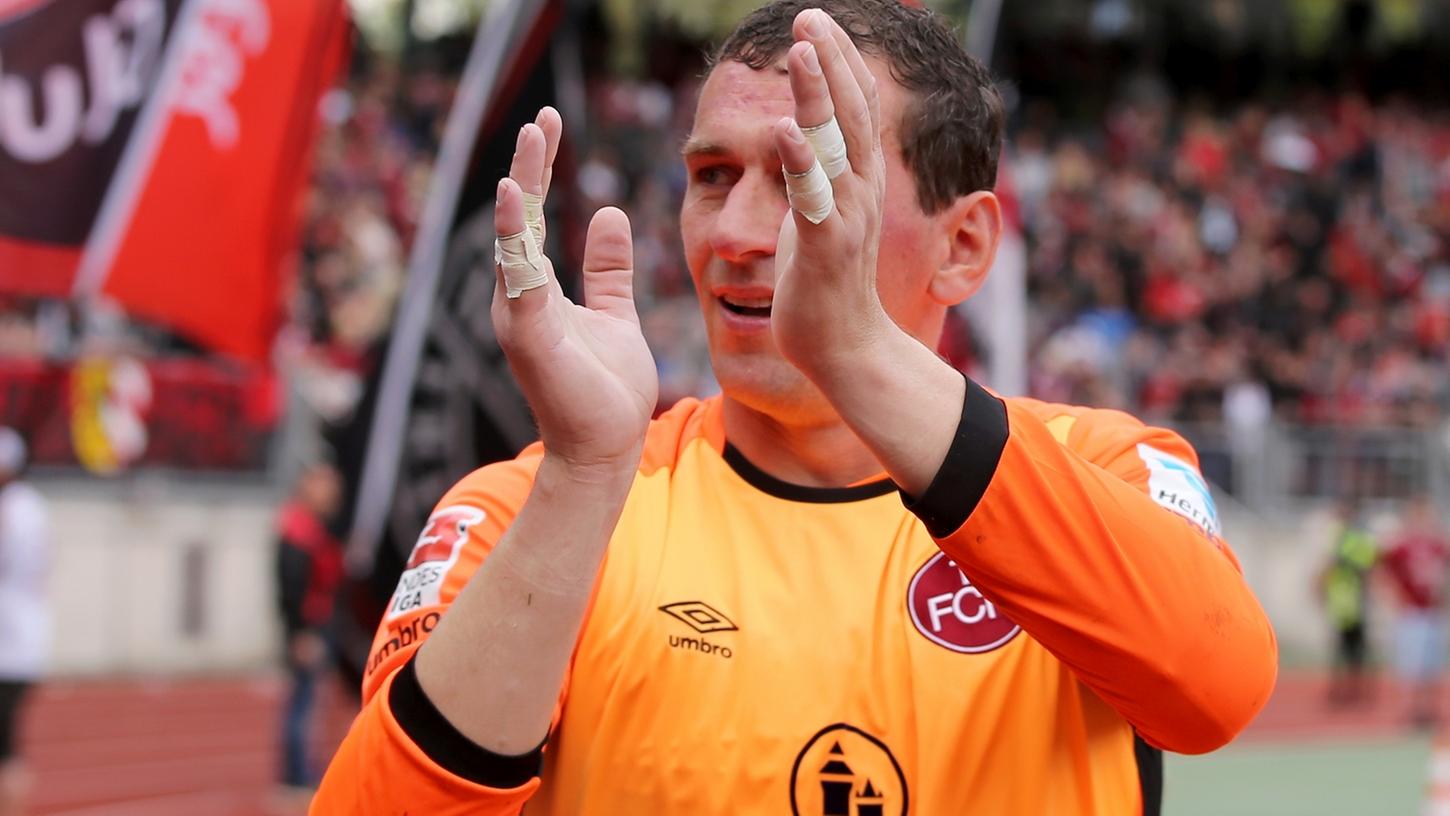
[[[937,478],[908,506],[993,603],[1151,745],[1212,751],[1263,707],[1273,629],[1180,436],[969,383]]]

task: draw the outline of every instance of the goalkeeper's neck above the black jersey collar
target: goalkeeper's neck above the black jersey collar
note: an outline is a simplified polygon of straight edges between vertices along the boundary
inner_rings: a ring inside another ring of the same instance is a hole
[[[882,474],[841,417],[783,422],[724,397],[725,439],[753,465],[802,487],[844,487]]]

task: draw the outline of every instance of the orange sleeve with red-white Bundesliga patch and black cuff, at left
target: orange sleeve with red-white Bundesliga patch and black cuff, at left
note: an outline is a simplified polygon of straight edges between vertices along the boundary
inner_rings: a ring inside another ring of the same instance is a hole
[[[312,813],[510,815],[538,790],[542,745],[505,757],[471,742],[428,700],[412,662],[512,523],[536,465],[532,449],[476,471],[429,516],[373,641],[362,710],[328,765]]]

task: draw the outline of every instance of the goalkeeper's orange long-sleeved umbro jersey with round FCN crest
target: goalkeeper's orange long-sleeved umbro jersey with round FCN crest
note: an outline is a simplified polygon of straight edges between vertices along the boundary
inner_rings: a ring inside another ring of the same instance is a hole
[[[542,757],[468,742],[413,674],[541,451],[470,474],[313,813],[1157,813],[1156,748],[1222,745],[1276,673],[1196,457],[1122,413],[967,394],[921,497],[771,478],[718,399],[655,420]]]

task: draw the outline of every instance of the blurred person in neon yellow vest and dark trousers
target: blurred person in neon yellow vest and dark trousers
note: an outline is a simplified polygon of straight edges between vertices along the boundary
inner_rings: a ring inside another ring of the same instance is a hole
[[[1337,509],[1334,551],[1320,584],[1324,606],[1334,628],[1334,674],[1330,678],[1330,704],[1362,704],[1369,699],[1370,678],[1366,671],[1369,644],[1366,628],[1369,615],[1369,575],[1375,568],[1375,539],[1363,528],[1360,510],[1353,500],[1343,500]]]

